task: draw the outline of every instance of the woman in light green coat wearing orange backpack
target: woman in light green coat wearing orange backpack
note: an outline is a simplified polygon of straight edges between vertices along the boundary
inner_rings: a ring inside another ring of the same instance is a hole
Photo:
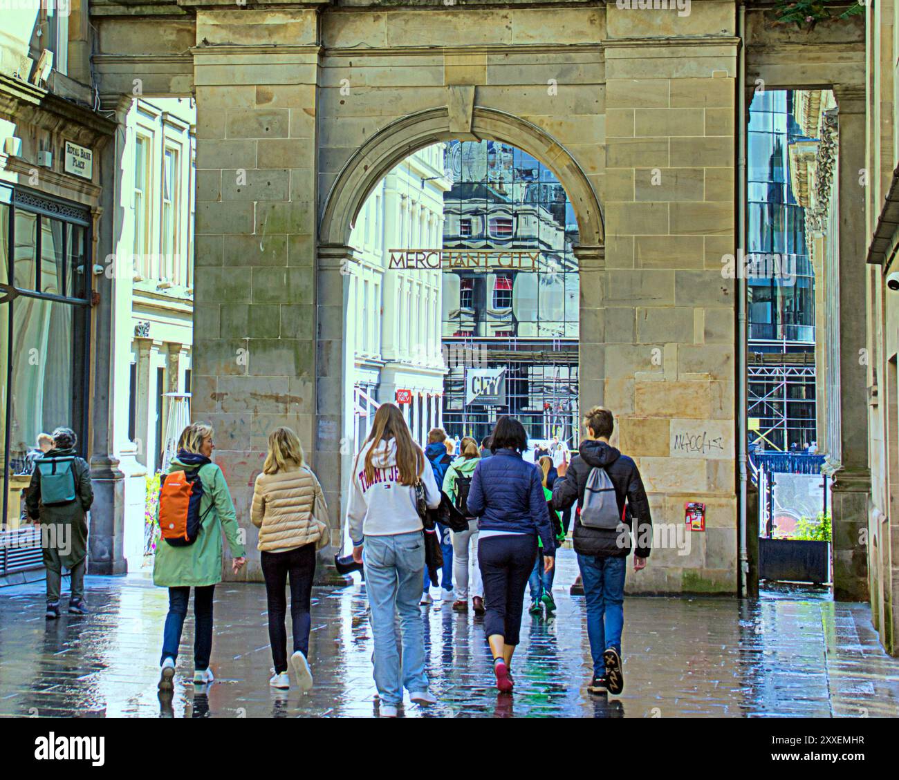
[[[169,611],[165,616],[163,652],[160,660],[159,689],[174,687],[174,664],[178,658],[178,645],[187,602],[193,588],[193,610],[196,628],[193,639],[193,684],[206,685],[215,679],[209,669],[212,651],[212,598],[218,582],[222,581],[222,530],[228,547],[234,555],[232,570],[236,574],[246,563],[244,545],[240,541],[240,528],[234,510],[234,502],[228,492],[225,475],[209,457],[215,448],[214,430],[207,422],[194,422],[185,428],[178,439],[178,454],[169,465],[169,474],[175,471],[198,470],[203,485],[200,501],[200,517],[203,518],[200,533],[192,545],[174,547],[164,539],[156,544],[156,560],[153,563],[153,582],[169,589]]]

